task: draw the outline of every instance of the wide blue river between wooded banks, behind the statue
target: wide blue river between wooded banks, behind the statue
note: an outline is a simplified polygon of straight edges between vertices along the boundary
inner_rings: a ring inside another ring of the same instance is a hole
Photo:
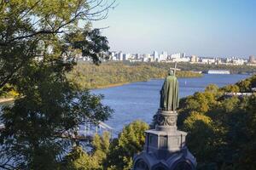
[[[203,91],[208,84],[218,87],[238,82],[248,75],[204,75],[196,78],[179,78],[180,98]],[[119,87],[92,90],[93,94],[103,94],[104,105],[109,105],[113,116],[106,123],[113,127],[114,133],[135,120],[150,123],[159,107],[160,88],[163,79],[153,79],[148,82],[132,82]]]

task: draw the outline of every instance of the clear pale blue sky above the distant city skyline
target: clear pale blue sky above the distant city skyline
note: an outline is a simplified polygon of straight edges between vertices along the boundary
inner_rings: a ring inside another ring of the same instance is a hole
[[[255,0],[117,0],[94,27],[124,53],[256,55]]]

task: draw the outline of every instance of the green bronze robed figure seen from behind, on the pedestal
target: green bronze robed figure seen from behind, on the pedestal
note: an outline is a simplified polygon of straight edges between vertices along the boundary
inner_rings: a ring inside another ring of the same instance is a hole
[[[170,71],[160,90],[160,110],[176,111],[178,107],[178,82],[174,71]]]

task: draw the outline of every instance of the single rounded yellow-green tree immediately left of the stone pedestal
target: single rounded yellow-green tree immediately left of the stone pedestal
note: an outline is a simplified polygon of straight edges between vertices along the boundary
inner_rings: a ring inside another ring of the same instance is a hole
[[[131,169],[133,156],[143,150],[147,129],[148,124],[141,121],[125,126],[119,138],[110,144],[105,166],[109,169]]]

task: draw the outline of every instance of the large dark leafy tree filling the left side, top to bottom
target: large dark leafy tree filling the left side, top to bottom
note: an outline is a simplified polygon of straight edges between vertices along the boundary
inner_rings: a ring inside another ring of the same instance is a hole
[[[72,147],[79,124],[110,116],[112,110],[102,105],[102,96],[79,93],[66,77],[76,54],[95,64],[108,59],[107,38],[90,28],[90,20],[101,19],[97,16],[108,9],[102,4],[1,1],[0,89],[9,84],[19,94],[1,116],[1,168],[56,169]]]

